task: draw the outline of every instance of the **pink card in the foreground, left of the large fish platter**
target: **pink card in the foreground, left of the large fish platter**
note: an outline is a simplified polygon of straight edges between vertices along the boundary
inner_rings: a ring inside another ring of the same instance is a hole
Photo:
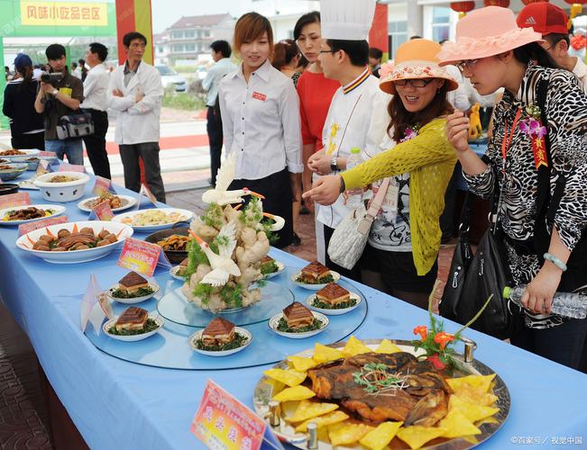
[[[189,429],[208,448],[258,450],[265,428],[263,419],[208,380]]]

